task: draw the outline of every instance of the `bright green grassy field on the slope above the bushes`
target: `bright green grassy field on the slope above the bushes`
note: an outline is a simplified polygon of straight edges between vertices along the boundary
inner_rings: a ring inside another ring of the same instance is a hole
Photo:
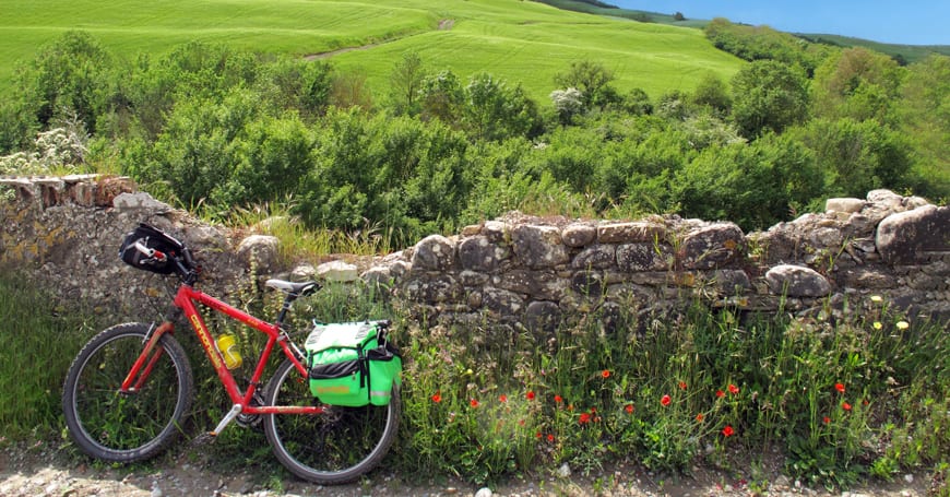
[[[554,74],[580,59],[614,70],[621,92],[642,87],[652,96],[689,91],[708,71],[728,79],[743,63],[698,29],[521,0],[0,0],[0,91],[10,87],[17,61],[68,29],[87,31],[128,59],[195,39],[300,57],[360,48],[330,60],[365,73],[376,93],[384,93],[393,62],[411,50],[430,69],[451,69],[463,81],[487,71],[538,100],[555,90]]]

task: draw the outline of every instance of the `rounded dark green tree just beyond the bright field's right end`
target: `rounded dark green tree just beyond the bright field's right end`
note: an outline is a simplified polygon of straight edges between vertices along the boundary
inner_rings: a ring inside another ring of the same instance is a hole
[[[733,78],[733,119],[744,137],[776,133],[808,116],[808,81],[800,69],[757,60]]]

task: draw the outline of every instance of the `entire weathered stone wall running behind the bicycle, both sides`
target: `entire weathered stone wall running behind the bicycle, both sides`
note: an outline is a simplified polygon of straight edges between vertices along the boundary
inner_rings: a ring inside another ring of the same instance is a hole
[[[0,202],[0,264],[54,288],[60,305],[95,303],[136,319],[153,307],[163,280],[117,257],[138,222],[192,247],[203,287],[225,299],[248,276],[251,260],[264,277],[319,272],[312,261],[278,267],[276,239],[200,223],[138,192],[128,178],[8,178],[0,188],[8,191]],[[344,265],[336,274],[357,271]],[[947,319],[950,209],[876,190],[866,199],[831,199],[824,213],[750,234],[728,222],[670,215],[619,222],[511,213],[456,236],[429,236],[358,274],[390,287],[414,316],[447,324],[537,329],[592,312],[609,321],[626,309],[662,317],[698,300],[840,312],[860,309],[870,295]]]

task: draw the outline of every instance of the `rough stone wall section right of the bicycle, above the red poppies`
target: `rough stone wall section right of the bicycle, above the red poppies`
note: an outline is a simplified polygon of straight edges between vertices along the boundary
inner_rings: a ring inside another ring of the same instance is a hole
[[[529,328],[601,310],[642,317],[684,305],[808,313],[879,295],[950,318],[950,209],[887,190],[832,199],[767,232],[678,216],[632,222],[519,214],[430,236],[366,276],[394,279],[429,318]]]

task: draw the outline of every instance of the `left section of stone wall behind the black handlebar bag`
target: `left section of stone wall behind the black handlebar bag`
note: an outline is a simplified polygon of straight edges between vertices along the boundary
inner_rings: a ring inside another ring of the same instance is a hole
[[[0,268],[49,291],[58,300],[51,308],[92,306],[117,321],[161,318],[174,287],[118,257],[124,235],[140,222],[200,248],[203,286],[211,293],[227,297],[233,282],[247,274],[226,230],[138,192],[128,178],[5,178],[0,189]]]

